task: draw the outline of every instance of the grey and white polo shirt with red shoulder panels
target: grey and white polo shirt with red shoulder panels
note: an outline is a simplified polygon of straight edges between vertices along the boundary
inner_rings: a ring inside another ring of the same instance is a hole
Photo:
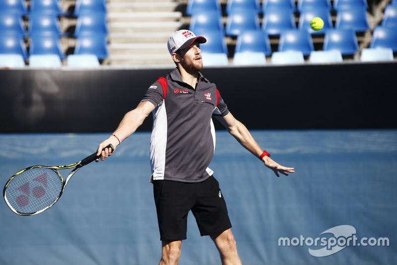
[[[215,84],[199,73],[197,88],[182,81],[178,69],[159,78],[141,101],[150,101],[152,179],[200,182],[213,174],[208,168],[215,150],[212,115],[229,113]]]

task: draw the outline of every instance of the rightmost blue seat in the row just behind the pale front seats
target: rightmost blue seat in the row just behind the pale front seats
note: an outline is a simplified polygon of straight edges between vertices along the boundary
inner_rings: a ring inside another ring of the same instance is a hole
[[[377,26],[372,34],[370,48],[391,48],[397,52],[397,28]]]

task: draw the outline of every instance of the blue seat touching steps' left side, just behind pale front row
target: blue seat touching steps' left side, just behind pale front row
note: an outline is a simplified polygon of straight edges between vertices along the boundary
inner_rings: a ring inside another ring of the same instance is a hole
[[[105,34],[82,35],[77,38],[74,54],[94,54],[99,60],[109,56]]]

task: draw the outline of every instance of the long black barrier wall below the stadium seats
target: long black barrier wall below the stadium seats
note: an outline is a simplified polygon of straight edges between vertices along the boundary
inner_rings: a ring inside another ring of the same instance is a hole
[[[146,89],[171,70],[0,70],[0,132],[113,131]],[[202,73],[249,129],[397,127],[397,62],[206,68]],[[150,129],[148,118],[139,130]]]

